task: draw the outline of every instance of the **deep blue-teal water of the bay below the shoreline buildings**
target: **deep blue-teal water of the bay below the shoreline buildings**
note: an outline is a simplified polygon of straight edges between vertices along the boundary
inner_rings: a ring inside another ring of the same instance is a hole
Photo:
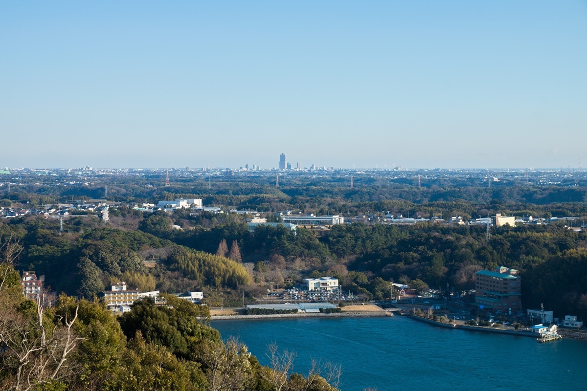
[[[342,365],[343,391],[587,390],[587,342],[438,328],[405,317],[299,318],[212,322],[237,336],[263,365],[266,346]]]

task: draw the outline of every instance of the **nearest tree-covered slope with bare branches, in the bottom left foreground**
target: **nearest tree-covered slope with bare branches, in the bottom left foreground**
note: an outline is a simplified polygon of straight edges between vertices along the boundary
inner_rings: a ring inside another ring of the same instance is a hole
[[[259,365],[241,342],[221,341],[208,307],[173,295],[164,297],[167,306],[137,302],[118,319],[100,302],[65,295],[54,307],[38,306],[2,256],[3,390],[335,390],[317,373],[288,373],[281,361]]]

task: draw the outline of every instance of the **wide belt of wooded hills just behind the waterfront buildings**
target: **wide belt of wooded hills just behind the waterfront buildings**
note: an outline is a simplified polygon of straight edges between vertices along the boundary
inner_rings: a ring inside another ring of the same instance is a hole
[[[238,305],[241,291],[251,301],[266,285],[334,276],[343,290],[382,300],[392,295],[389,281],[468,290],[475,286],[476,271],[507,266],[521,271],[524,307],[544,303],[558,315],[587,316],[587,281],[579,277],[584,276],[587,234],[562,222],[494,227],[487,240],[483,226],[355,223],[318,233],[281,226],[249,232],[230,215],[206,227],[200,225],[205,216],[181,213],[147,214],[138,230],[79,216],[63,233],[55,220],[41,217],[2,222],[0,232],[22,245],[20,270],[44,274],[46,285],[58,293],[89,299],[109,284],[127,281],[141,291],[204,289],[211,304],[219,304],[220,290],[227,303]],[[193,223],[194,229],[168,229],[174,218]]]

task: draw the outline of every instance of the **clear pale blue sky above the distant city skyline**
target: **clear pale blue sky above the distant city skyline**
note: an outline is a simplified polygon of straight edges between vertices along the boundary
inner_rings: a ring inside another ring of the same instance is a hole
[[[587,1],[2,2],[0,166],[587,165]]]

